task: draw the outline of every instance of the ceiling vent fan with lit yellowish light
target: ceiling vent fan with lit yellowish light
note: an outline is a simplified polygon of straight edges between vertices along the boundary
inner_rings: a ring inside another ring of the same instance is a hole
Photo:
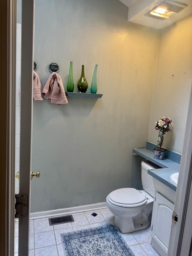
[[[187,6],[188,5],[180,2],[167,0],[146,13],[145,16],[159,20],[169,19],[172,14],[179,13]]]

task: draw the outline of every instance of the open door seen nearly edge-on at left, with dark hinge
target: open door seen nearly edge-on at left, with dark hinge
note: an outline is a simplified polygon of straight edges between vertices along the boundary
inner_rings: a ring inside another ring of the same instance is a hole
[[[29,255],[31,145],[33,99],[34,0],[22,1],[20,89],[20,167],[16,217],[19,218],[18,255]],[[17,67],[18,68],[18,67]],[[21,206],[21,207],[19,207]]]

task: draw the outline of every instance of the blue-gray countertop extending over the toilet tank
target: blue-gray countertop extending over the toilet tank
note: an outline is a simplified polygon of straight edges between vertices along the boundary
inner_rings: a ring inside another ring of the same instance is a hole
[[[151,161],[152,163],[160,166],[161,167],[160,169],[148,170],[148,173],[154,178],[161,181],[163,184],[167,185],[169,188],[176,191],[177,185],[171,180],[170,176],[173,173],[179,172],[179,168],[180,168],[179,163],[169,158],[164,158],[162,160],[156,159],[154,156],[154,152],[146,148],[137,148],[137,149],[133,149],[132,151],[133,151],[133,155],[135,154],[140,155],[143,158]]]

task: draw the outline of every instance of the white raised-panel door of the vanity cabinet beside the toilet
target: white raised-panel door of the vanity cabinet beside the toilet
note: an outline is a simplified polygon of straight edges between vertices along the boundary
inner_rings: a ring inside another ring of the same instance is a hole
[[[161,256],[167,255],[174,204],[156,191],[153,206],[151,244]]]

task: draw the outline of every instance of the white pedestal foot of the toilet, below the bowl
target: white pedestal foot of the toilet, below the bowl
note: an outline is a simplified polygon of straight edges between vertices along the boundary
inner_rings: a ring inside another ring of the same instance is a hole
[[[123,218],[115,216],[114,224],[119,228],[121,233],[130,233],[136,230],[145,229],[149,226],[149,220],[142,221],[142,223],[137,223],[133,221],[133,218]]]

